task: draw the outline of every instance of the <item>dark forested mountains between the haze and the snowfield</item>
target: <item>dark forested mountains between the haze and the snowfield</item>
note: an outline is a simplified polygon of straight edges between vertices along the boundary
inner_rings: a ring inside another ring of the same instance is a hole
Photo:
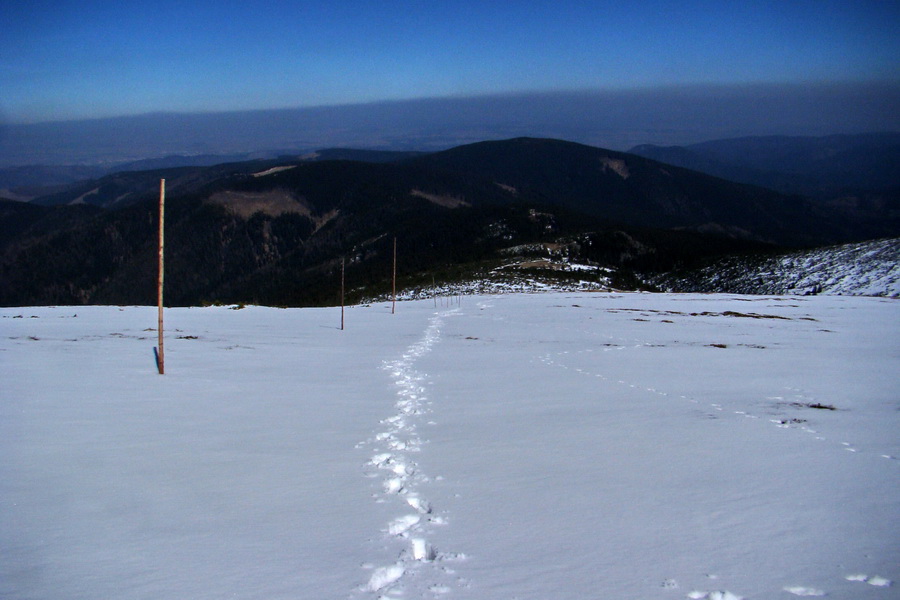
[[[856,159],[847,151],[843,164],[872,168],[868,178],[845,170],[854,178],[835,184],[843,203],[701,173],[715,170],[708,156],[692,170],[637,154],[698,155],[693,148],[622,153],[538,138],[431,153],[142,162],[31,202],[0,202],[0,304],[152,304],[160,179],[172,304],[298,306],[339,301],[342,260],[351,300],[383,293],[394,238],[405,287],[496,275],[518,256],[520,268],[505,276],[530,270],[551,282],[639,289],[725,256],[897,237],[896,169],[875,168],[896,166],[894,150],[868,146]],[[862,200],[848,203],[850,193]]]

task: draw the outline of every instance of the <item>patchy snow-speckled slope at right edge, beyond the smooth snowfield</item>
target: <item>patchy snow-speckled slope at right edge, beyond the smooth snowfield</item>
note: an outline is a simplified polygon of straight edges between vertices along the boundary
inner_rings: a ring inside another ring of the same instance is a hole
[[[665,275],[664,287],[754,294],[900,297],[900,238],[752,259],[727,258],[698,273]]]

